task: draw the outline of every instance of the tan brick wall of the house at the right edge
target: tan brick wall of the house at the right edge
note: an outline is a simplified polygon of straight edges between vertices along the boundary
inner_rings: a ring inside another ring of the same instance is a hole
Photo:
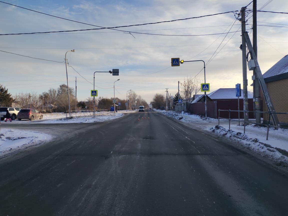
[[[281,79],[266,83],[272,103],[276,112],[288,112],[288,79]],[[263,111],[267,112],[265,99],[263,100]],[[277,115],[279,122],[288,123],[288,115]],[[268,121],[268,114],[263,114],[264,121]]]

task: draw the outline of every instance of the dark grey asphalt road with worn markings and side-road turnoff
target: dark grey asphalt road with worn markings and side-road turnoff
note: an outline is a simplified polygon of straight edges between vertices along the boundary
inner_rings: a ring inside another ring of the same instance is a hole
[[[0,160],[1,216],[288,215],[285,171],[160,113],[49,127]]]

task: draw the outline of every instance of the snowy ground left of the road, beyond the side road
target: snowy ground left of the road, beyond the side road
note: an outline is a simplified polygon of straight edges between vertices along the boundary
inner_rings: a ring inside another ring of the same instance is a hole
[[[93,117],[93,113],[82,113],[77,114],[77,118],[75,118],[75,113],[72,114],[72,119],[66,118],[66,113],[43,113],[43,120],[35,119],[30,121],[29,119],[22,119],[21,121],[14,120],[12,122],[4,122],[1,121],[1,124],[30,124],[30,123],[45,123],[45,124],[57,124],[57,123],[90,123],[90,122],[102,122],[106,120],[111,120],[114,118],[121,117],[124,113],[130,113],[135,111],[121,111],[117,113],[107,112],[107,113],[97,113],[95,112],[95,118]],[[69,114],[67,115],[69,117]]]

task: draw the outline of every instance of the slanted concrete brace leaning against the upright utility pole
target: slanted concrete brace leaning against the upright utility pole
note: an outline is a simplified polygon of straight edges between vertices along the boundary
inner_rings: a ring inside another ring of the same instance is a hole
[[[262,75],[262,72],[261,72],[259,63],[258,63],[258,61],[257,61],[257,57],[256,57],[256,55],[255,55],[253,46],[252,46],[252,44],[251,44],[251,41],[250,41],[248,32],[245,31],[243,34],[244,34],[244,37],[245,37],[245,41],[246,41],[246,43],[247,43],[248,50],[249,50],[249,52],[250,52],[250,54],[251,54],[251,57],[252,57],[252,59],[255,61],[255,65],[256,65],[256,67],[255,67],[255,69],[256,69],[255,72],[256,72],[256,75],[257,75],[257,79],[258,79],[258,81],[259,81],[259,84],[260,84],[260,86],[261,86],[262,93],[263,93],[263,96],[264,96],[264,98],[265,98],[265,102],[266,102],[266,104],[267,104],[268,110],[269,110],[270,112],[275,112],[273,103],[272,103],[271,98],[270,98],[270,94],[269,94],[269,92],[268,92],[268,88],[267,88],[266,83],[265,83],[265,81],[264,81],[264,78],[263,78],[263,75]],[[274,124],[275,126],[279,126],[279,120],[278,120],[277,115],[276,115],[275,113],[272,113],[271,116],[272,116],[273,124]]]

